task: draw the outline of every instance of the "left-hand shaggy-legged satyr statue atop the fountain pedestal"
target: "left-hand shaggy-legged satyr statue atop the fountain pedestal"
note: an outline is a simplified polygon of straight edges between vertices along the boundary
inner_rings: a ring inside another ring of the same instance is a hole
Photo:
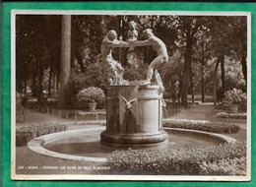
[[[103,38],[100,46],[102,62],[109,64],[114,73],[115,79],[122,81],[124,69],[120,63],[113,59],[113,47],[128,47],[128,43],[126,41],[117,40],[116,31],[111,30],[108,31],[106,36]]]

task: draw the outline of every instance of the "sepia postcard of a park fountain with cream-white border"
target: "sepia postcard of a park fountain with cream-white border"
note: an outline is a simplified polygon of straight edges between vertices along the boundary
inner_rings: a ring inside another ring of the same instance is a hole
[[[12,12],[12,179],[251,179],[249,12]]]

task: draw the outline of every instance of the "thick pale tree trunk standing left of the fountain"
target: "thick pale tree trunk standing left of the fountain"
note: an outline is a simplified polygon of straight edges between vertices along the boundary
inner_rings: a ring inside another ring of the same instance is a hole
[[[71,16],[62,16],[61,27],[61,65],[60,65],[60,92],[58,96],[58,106],[66,107],[66,86],[70,77],[71,62]]]

